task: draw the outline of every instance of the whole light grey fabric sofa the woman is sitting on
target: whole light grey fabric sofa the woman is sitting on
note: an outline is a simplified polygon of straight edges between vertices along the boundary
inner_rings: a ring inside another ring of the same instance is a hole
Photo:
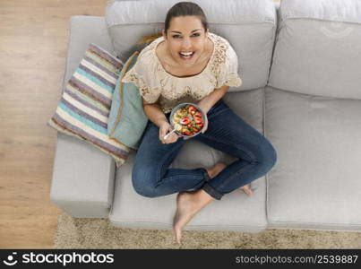
[[[64,82],[94,43],[125,61],[136,40],[162,29],[178,1],[110,1],[106,15],[73,16]],[[238,56],[243,84],[223,100],[267,137],[277,163],[241,190],[202,209],[185,230],[361,231],[361,2],[193,1]],[[142,15],[140,15],[142,14]],[[240,137],[242,139],[242,137]],[[106,153],[58,133],[50,199],[74,218],[121,228],[172,229],[176,194],[138,195],[133,158],[116,168]],[[228,164],[235,157],[192,139],[173,168]]]

